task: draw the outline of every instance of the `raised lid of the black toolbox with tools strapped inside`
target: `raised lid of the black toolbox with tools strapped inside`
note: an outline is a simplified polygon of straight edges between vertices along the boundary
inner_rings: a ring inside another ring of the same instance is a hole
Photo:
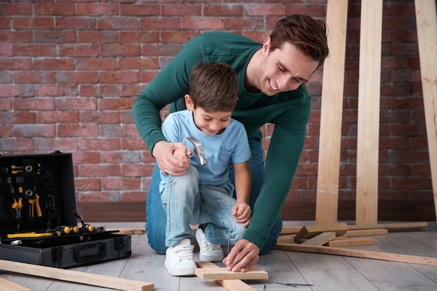
[[[77,225],[71,154],[0,156],[0,236]]]

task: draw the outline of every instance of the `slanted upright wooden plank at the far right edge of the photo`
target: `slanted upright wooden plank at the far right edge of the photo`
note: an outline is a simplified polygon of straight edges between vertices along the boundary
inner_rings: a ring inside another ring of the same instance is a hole
[[[424,100],[425,122],[434,208],[437,219],[437,19],[435,0],[415,0],[417,44]]]

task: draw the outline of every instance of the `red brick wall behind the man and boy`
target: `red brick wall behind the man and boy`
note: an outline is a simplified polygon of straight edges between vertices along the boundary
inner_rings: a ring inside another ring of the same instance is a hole
[[[154,160],[135,96],[203,31],[260,42],[276,20],[325,19],[326,1],[0,1],[0,154],[73,153],[78,202],[144,202]],[[414,2],[384,1],[381,200],[432,201]],[[349,1],[340,199],[355,195],[360,1]],[[322,71],[289,201],[315,200]],[[165,110],[163,117],[165,117]],[[262,128],[267,151],[273,126]]]

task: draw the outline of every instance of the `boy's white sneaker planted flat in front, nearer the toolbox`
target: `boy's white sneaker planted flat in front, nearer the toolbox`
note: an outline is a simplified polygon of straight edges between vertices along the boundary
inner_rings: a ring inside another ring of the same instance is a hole
[[[165,269],[172,276],[194,276],[197,267],[193,258],[194,246],[189,239],[182,239],[177,246],[165,251]]]

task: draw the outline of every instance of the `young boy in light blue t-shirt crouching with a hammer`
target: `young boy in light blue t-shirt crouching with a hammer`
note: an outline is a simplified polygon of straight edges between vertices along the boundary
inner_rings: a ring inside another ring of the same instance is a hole
[[[206,165],[198,156],[182,176],[161,171],[161,200],[167,214],[165,230],[165,269],[172,276],[193,276],[193,230],[200,246],[200,260],[223,260],[221,244],[235,244],[249,225],[251,151],[244,126],[231,119],[238,94],[238,80],[231,66],[224,63],[197,64],[191,72],[187,110],[170,114],[163,122],[168,142],[182,142],[175,158],[191,156],[197,138],[205,151]],[[229,164],[235,169],[235,186],[229,181]],[[237,193],[237,200],[230,196]]]

